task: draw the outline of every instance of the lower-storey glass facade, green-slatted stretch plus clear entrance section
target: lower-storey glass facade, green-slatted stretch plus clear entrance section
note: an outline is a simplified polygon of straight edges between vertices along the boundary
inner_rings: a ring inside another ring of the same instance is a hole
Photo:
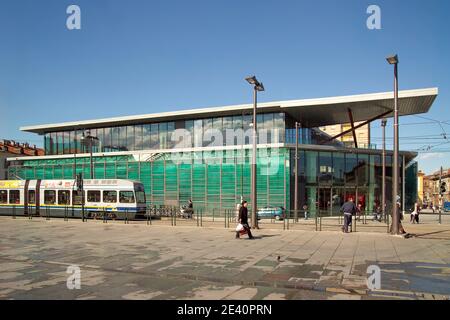
[[[195,123],[192,127],[195,130]],[[148,128],[152,132],[152,127]],[[159,126],[154,128],[159,132]],[[154,142],[161,143],[161,140]],[[259,207],[270,205],[293,209],[294,152],[292,147],[258,149]],[[241,196],[250,199],[251,148],[157,155],[156,158],[148,158],[148,155],[142,155],[142,158],[141,155],[94,156],[94,178],[138,180],[144,184],[146,198],[152,204],[178,206],[192,199],[197,208],[204,208],[211,214],[234,208]],[[300,150],[299,208],[307,205],[311,216],[319,212],[325,216],[338,215],[343,202],[352,196],[363,210],[371,213],[374,205],[381,203],[381,166],[381,155],[374,152]],[[90,177],[90,160],[89,157],[24,160],[11,165],[8,170],[10,176],[22,179],[73,179],[76,173]],[[406,209],[416,198],[415,184],[411,182],[414,182],[416,171],[417,165],[413,164],[405,172]],[[391,186],[392,157],[388,155],[388,211],[392,204]]]

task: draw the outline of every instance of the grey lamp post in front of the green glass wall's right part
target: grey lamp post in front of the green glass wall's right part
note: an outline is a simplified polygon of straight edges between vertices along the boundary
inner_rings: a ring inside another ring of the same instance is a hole
[[[253,150],[252,150],[252,190],[251,190],[251,203],[252,203],[252,224],[253,228],[258,229],[257,219],[257,195],[256,195],[256,154],[257,154],[257,128],[256,128],[256,103],[258,98],[258,91],[264,91],[264,85],[260,83],[255,76],[245,78],[248,83],[253,86]]]

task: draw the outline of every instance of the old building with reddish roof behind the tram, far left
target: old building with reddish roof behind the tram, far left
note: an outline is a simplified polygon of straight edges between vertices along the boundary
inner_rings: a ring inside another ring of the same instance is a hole
[[[14,174],[8,176],[7,158],[15,156],[43,156],[44,149],[31,146],[28,143],[18,143],[13,140],[0,140],[0,180],[15,179]]]

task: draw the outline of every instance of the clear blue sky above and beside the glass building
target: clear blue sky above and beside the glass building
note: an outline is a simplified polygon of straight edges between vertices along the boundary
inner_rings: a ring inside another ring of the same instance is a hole
[[[81,30],[66,28],[70,4]],[[366,27],[371,4],[381,30]],[[260,101],[389,91],[395,52],[400,89],[440,90],[427,119],[401,118],[401,148],[435,146],[450,135],[449,13],[446,0],[2,0],[0,137],[42,145],[18,128],[251,102],[249,74]],[[450,167],[450,143],[431,150],[421,169]]]

